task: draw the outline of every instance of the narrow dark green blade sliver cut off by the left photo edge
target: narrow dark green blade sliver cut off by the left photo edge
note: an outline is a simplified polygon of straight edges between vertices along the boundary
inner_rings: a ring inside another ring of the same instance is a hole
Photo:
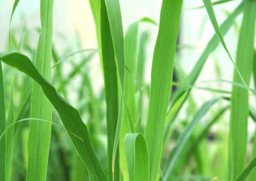
[[[4,101],[4,80],[3,69],[0,62],[0,133],[2,134],[5,129],[5,101]],[[5,157],[6,145],[5,138],[0,140],[0,180],[5,180]]]

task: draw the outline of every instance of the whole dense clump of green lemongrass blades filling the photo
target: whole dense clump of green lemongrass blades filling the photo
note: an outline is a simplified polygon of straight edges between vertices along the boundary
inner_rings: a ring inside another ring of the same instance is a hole
[[[248,132],[248,120],[256,122],[256,1],[241,1],[219,25],[212,6],[228,1],[203,0],[204,6],[193,8],[205,10],[214,35],[186,75],[175,63],[182,59],[176,55],[182,50],[177,47],[182,0],[163,0],[159,21],[140,17],[125,33],[118,0],[90,0],[98,48],[83,49],[77,38],[63,55],[52,40],[54,2],[41,0],[37,47],[24,21],[21,30],[10,28],[0,54],[0,180],[255,180],[256,134]],[[10,25],[18,5],[16,0]],[[233,55],[224,36],[239,15]],[[140,24],[158,29],[150,83],[145,82],[150,34]],[[219,45],[234,78],[218,81],[231,90],[197,83]],[[95,54],[104,80],[100,95],[88,64]],[[67,75],[63,64],[71,69]],[[68,92],[77,76],[75,108]],[[198,89],[212,93],[199,107],[193,97]],[[212,134],[214,126],[218,134]]]

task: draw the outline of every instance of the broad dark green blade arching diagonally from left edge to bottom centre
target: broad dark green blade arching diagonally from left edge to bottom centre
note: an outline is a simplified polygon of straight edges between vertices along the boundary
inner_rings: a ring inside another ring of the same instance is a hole
[[[40,84],[45,96],[49,99],[49,101],[51,101],[52,105],[60,115],[63,125],[68,130],[68,135],[72,140],[74,147],[88,169],[90,179],[100,181],[108,180],[100,166],[99,160],[93,152],[88,129],[83,123],[79,112],[70,106],[63,98],[61,98],[54,87],[52,87],[52,85],[47,82],[42,75],[40,75],[35,66],[33,66],[31,61],[29,61],[28,57],[25,55],[19,53],[5,54],[0,57],[0,60],[9,66],[17,68],[19,71],[26,73]]]

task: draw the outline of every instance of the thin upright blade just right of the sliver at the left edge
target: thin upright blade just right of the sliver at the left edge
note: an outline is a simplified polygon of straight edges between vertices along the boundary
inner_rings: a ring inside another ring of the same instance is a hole
[[[7,126],[14,122],[14,110],[13,110],[13,80],[10,92],[10,103],[8,110]],[[12,127],[8,133],[6,133],[6,158],[5,158],[5,175],[6,181],[12,180],[12,163],[13,163],[13,147],[14,147],[14,127]]]

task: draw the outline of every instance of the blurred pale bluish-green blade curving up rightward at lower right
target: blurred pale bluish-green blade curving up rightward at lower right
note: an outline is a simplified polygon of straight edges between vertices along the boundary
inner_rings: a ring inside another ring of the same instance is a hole
[[[173,148],[173,153],[170,154],[170,157],[168,158],[169,161],[167,161],[166,165],[164,166],[164,180],[168,180],[170,175],[172,175],[173,168],[175,168],[175,164],[179,160],[179,156],[182,153],[182,149],[184,148],[186,142],[189,140],[191,134],[193,133],[195,126],[202,119],[202,117],[204,117],[205,113],[208,112],[211,106],[217,103],[219,100],[220,98],[217,98],[212,99],[207,103],[204,103],[200,110],[196,112],[196,115],[195,117],[193,117],[193,120],[191,120],[189,125],[186,127],[186,129],[184,129],[182,134],[179,136],[177,143],[175,144],[175,148]]]

